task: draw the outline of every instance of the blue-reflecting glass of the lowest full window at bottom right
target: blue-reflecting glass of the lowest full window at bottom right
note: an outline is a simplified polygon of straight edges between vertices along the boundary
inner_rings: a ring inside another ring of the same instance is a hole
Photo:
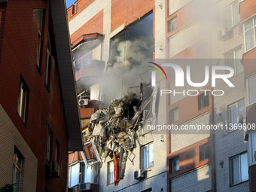
[[[247,153],[230,158],[231,185],[248,180]]]

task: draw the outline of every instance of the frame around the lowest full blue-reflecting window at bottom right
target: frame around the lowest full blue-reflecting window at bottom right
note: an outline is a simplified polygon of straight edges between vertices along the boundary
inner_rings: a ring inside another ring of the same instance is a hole
[[[241,156],[243,155],[243,154],[246,154],[246,157],[247,157],[247,166],[245,166],[245,167],[247,167],[247,169],[248,169],[248,154],[247,154],[247,151],[244,151],[244,152],[242,152],[242,153],[240,153],[240,154],[236,154],[236,155],[234,155],[233,157],[230,157],[229,158],[229,166],[230,166],[230,187],[232,187],[232,186],[234,186],[234,185],[236,185],[236,184],[241,184],[241,183],[243,183],[243,182],[246,182],[246,181],[248,181],[248,178],[246,179],[246,180],[244,180],[244,181],[242,181],[242,166],[241,166]],[[233,159],[235,159],[236,157],[238,157],[239,158],[239,182],[237,182],[237,183],[233,183]],[[248,171],[247,171],[248,172]]]

